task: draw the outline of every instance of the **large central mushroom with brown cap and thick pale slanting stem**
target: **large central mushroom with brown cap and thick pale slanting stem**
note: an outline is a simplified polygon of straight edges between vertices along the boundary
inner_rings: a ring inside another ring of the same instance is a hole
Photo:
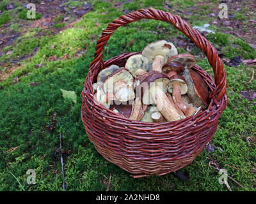
[[[180,120],[180,114],[165,95],[169,82],[169,78],[164,73],[150,71],[150,75],[141,84],[142,102],[145,105],[156,104],[159,112],[168,121]]]

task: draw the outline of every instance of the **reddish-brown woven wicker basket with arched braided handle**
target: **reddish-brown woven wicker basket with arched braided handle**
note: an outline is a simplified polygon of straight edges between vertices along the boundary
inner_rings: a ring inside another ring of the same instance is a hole
[[[93,100],[92,84],[99,71],[111,64],[124,66],[131,55],[140,53],[125,53],[102,61],[104,45],[118,27],[142,18],[170,22],[207,55],[214,71],[215,84],[202,68],[197,65],[192,68],[209,87],[211,102],[207,110],[196,116],[159,124],[127,119]],[[137,178],[164,175],[191,163],[211,140],[218,119],[227,106],[225,70],[214,47],[179,16],[161,10],[141,9],[113,20],[102,31],[95,50],[81,93],[81,118],[95,149],[108,161]]]

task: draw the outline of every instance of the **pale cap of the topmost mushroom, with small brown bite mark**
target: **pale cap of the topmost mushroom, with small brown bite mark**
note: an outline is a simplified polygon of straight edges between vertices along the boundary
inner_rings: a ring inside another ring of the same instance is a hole
[[[178,50],[173,43],[165,40],[158,40],[143,48],[141,54],[147,57],[150,63],[154,61],[157,55],[162,55],[165,64],[170,57],[178,54]]]

